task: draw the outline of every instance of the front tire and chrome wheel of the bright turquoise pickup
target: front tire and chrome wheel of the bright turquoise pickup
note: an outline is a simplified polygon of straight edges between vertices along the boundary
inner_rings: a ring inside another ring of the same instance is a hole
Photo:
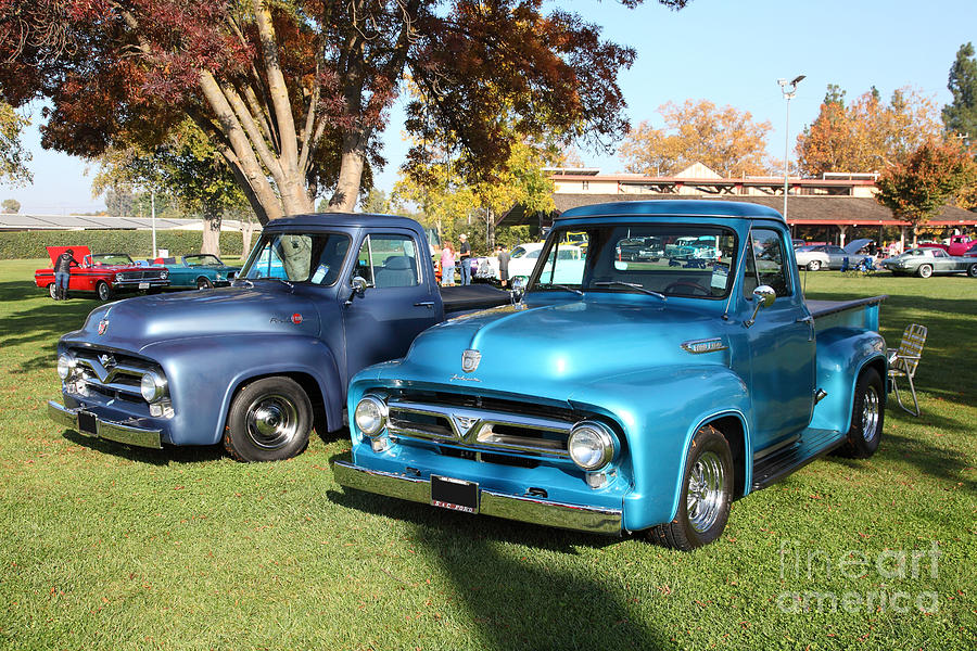
[[[682,551],[691,551],[719,538],[729,519],[734,480],[728,442],[712,425],[699,427],[685,459],[678,513],[672,522],[648,529],[648,538]],[[689,489],[694,482],[700,495],[693,497],[690,503]]]

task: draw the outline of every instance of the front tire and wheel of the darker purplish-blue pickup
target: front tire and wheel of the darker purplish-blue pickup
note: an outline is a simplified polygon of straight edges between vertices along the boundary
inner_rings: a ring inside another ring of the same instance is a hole
[[[280,375],[245,384],[231,401],[224,448],[238,461],[280,461],[308,445],[313,409],[297,382]]]

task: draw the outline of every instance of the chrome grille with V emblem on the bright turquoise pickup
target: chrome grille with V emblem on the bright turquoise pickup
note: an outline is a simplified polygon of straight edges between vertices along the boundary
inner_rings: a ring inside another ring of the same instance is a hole
[[[580,417],[568,418],[572,413],[570,410],[558,410],[555,416],[526,414],[525,409],[515,410],[522,407],[519,403],[511,404],[512,410],[500,410],[498,406],[497,401],[491,407],[483,401],[482,407],[478,407],[392,397],[388,400],[388,431],[397,437],[477,450],[569,458],[567,438]]]

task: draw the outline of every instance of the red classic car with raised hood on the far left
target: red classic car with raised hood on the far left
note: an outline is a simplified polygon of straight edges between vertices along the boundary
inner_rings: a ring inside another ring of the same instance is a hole
[[[47,248],[52,267],[58,256],[68,248],[74,251],[78,266],[72,266],[68,292],[94,292],[100,301],[109,301],[118,293],[157,290],[169,284],[166,267],[137,265],[125,253],[92,254],[88,246]],[[39,288],[47,288],[51,298],[54,297],[53,268],[35,271],[34,282]]]

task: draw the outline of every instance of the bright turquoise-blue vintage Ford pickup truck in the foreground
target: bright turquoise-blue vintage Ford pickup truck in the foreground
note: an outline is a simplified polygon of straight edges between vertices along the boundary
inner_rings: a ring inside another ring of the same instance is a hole
[[[559,255],[568,232],[583,264]],[[662,257],[621,259],[635,239]],[[884,298],[805,301],[787,225],[763,206],[568,210],[521,303],[435,326],[353,379],[337,481],[689,550],[720,536],[735,499],[827,452],[875,452]]]

